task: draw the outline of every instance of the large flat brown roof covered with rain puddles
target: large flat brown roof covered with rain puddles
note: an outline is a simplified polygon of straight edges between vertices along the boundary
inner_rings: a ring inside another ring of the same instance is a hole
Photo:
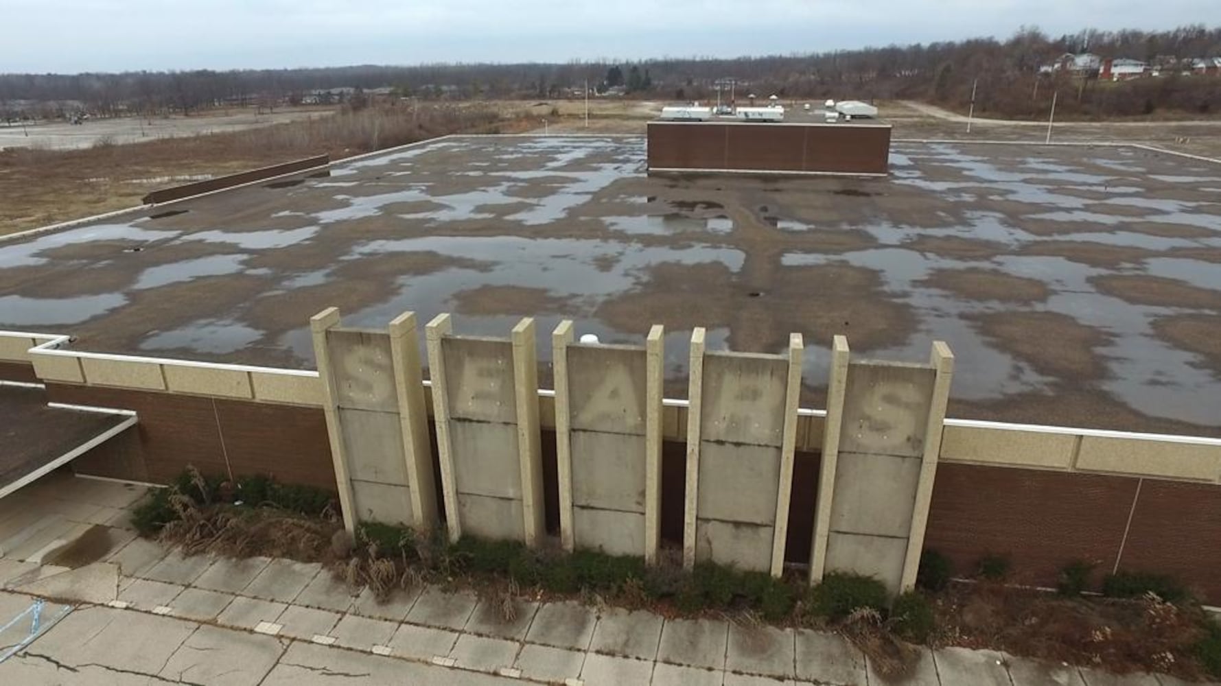
[[[956,355],[951,416],[1221,435],[1221,166],[1136,148],[896,143],[888,178],[659,177],[643,137],[449,137],[0,243],[0,328],[311,367],[308,320],[448,311],[607,343]],[[545,370],[546,371],[546,370]],[[546,375],[545,375],[546,376]]]

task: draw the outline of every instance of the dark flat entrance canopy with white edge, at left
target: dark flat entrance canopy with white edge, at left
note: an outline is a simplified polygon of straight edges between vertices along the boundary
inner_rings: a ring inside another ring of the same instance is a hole
[[[48,404],[35,385],[0,382],[0,498],[136,426],[136,413]]]

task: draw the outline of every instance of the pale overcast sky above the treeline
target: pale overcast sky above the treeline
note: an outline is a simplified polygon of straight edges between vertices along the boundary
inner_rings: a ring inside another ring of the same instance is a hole
[[[1219,18],[1217,0],[0,0],[0,72],[739,56]]]

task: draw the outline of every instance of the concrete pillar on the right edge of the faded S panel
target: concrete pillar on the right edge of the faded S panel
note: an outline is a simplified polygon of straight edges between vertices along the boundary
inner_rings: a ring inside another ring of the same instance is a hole
[[[398,415],[403,432],[403,453],[410,485],[411,521],[416,531],[427,533],[437,524],[436,475],[432,472],[432,447],[429,444],[429,414],[424,402],[415,312],[403,312],[389,322],[394,386],[398,391]]]

